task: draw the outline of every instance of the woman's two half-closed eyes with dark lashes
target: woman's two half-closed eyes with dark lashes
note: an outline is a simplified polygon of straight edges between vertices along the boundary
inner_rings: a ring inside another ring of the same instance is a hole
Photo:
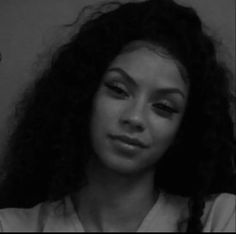
[[[128,94],[127,92],[119,87],[119,85],[117,84],[110,84],[110,83],[105,83],[105,86],[111,90],[113,93],[115,93],[116,95],[118,95],[119,97],[127,97]],[[172,108],[170,105],[165,104],[165,103],[157,103],[153,105],[155,112],[164,112],[165,114],[175,114],[175,113],[179,113],[178,110]]]

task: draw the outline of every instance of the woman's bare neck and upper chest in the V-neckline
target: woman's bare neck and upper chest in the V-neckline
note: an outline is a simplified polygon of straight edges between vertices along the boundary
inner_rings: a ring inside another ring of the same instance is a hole
[[[157,199],[153,171],[124,175],[92,163],[87,176],[75,197],[86,231],[136,231]]]

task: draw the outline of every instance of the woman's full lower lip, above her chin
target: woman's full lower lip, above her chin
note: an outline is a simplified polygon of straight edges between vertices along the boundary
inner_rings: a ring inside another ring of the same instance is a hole
[[[140,146],[132,145],[132,144],[126,143],[124,141],[121,141],[119,139],[114,139],[114,138],[111,138],[111,139],[112,139],[112,143],[113,143],[114,147],[116,148],[116,150],[118,150],[121,153],[136,154],[142,150],[142,148]]]

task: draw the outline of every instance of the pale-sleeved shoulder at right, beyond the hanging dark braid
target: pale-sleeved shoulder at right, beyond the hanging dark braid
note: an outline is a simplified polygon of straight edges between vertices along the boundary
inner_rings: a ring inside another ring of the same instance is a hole
[[[236,195],[212,195],[206,201],[202,222],[205,232],[235,232]]]

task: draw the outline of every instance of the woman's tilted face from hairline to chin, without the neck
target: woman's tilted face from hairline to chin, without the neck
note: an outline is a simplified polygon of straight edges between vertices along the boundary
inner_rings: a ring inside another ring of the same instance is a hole
[[[141,47],[118,55],[94,98],[91,140],[97,158],[119,173],[152,170],[174,141],[188,85],[170,57]]]

